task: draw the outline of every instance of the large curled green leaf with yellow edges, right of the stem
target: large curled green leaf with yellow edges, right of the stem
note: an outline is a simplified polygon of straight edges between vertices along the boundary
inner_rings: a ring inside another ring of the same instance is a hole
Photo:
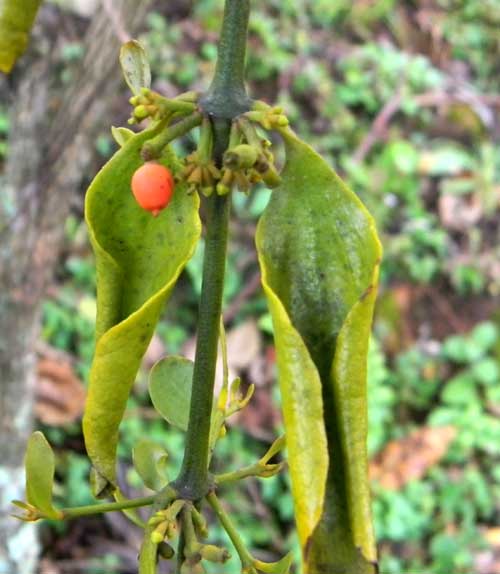
[[[257,249],[273,318],[305,574],[372,574],[366,357],[380,243],[359,199],[284,132]]]

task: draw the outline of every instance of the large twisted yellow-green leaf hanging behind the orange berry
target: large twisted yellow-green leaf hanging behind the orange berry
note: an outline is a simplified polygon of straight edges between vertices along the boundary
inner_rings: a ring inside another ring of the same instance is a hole
[[[158,217],[141,209],[130,180],[140,150],[160,125],[132,137],[103,167],[86,196],[97,266],[96,350],[83,418],[96,493],[115,484],[118,427],[160,312],[200,236],[199,199],[177,184]],[[177,173],[170,150],[161,159]]]

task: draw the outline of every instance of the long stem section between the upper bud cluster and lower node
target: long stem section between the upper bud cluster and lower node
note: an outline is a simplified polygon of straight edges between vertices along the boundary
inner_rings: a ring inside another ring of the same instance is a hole
[[[198,314],[189,425],[184,462],[176,480],[180,495],[199,500],[208,490],[208,455],[219,321],[224,288],[230,195],[206,200],[205,259]]]

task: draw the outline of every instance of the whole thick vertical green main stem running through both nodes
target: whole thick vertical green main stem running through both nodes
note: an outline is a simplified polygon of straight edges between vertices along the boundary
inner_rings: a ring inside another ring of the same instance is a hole
[[[247,111],[245,52],[249,0],[226,0],[215,76],[200,101],[213,126],[213,158],[218,167],[229,144],[231,119]],[[219,321],[226,266],[231,195],[213,195],[206,201],[205,259],[198,313],[189,424],[181,472],[175,481],[181,496],[200,500],[209,489],[210,419],[219,341]]]

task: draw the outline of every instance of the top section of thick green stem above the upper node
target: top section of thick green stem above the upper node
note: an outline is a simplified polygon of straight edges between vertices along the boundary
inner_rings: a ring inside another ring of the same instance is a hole
[[[245,90],[249,14],[250,0],[226,0],[214,79],[200,101],[212,117],[233,119],[250,109]]]

